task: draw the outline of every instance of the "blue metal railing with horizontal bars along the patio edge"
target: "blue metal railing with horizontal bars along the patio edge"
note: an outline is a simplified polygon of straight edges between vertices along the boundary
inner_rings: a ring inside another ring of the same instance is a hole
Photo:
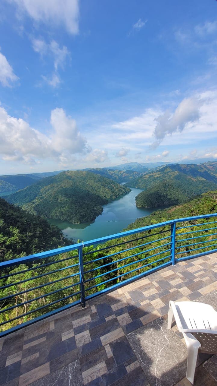
[[[216,252],[215,225],[217,213],[179,218],[0,263],[0,336],[177,261]]]

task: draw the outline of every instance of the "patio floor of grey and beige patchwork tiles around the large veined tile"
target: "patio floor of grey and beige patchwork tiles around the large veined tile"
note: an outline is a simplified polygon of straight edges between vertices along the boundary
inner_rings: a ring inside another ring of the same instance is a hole
[[[166,319],[169,300],[203,301],[209,293],[213,299],[215,289],[217,254],[210,254],[166,267],[92,299],[83,309],[72,307],[10,334],[0,339],[0,385],[146,386],[126,335],[156,318]],[[201,364],[195,386],[217,386],[216,365]],[[185,378],[177,384],[188,385]]]

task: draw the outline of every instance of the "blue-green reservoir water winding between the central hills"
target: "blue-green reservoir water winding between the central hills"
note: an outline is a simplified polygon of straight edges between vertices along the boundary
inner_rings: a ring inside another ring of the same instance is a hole
[[[72,224],[71,222],[48,219],[52,225],[57,225],[63,234],[74,242],[88,241],[99,237],[119,233],[136,218],[144,217],[159,208],[137,208],[135,197],[141,189],[131,188],[125,196],[111,201],[103,206],[103,212],[92,223]]]

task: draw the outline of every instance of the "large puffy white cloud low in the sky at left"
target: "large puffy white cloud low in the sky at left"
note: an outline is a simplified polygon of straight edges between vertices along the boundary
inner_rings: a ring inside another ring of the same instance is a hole
[[[49,135],[35,130],[23,119],[8,115],[0,107],[0,154],[5,161],[35,163],[39,159],[61,162],[76,153],[87,151],[86,139],[77,129],[76,121],[62,108],[55,108],[50,115]]]

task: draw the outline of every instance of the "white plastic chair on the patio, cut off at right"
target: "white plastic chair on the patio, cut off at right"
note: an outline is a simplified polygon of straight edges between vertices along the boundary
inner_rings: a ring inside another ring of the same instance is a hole
[[[170,300],[167,328],[173,317],[182,332],[188,350],[186,378],[193,384],[197,354],[217,354],[217,312],[208,304]]]

